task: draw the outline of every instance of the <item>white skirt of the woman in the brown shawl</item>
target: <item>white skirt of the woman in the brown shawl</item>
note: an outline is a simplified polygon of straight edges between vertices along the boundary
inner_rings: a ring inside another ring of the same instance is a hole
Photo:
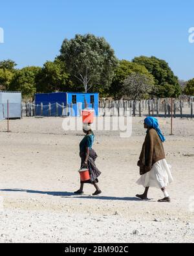
[[[142,175],[136,183],[144,187],[156,187],[162,189],[173,182],[171,165],[167,164],[166,159],[155,163],[150,172]]]

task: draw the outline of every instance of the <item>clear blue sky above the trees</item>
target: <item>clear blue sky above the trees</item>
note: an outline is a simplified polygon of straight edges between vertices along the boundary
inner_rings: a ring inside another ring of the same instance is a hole
[[[0,60],[18,67],[54,60],[64,38],[103,36],[120,59],[156,56],[180,79],[194,77],[193,0],[9,0],[0,3]]]

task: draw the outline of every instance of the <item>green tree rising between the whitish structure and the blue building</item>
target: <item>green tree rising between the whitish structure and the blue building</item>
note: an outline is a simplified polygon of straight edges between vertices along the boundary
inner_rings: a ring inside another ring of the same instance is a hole
[[[24,67],[16,71],[10,90],[21,91],[23,97],[29,99],[36,93],[36,76],[41,72],[41,67]]]

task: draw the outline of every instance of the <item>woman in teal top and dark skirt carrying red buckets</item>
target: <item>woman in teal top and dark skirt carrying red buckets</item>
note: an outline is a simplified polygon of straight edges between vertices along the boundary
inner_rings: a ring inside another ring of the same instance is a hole
[[[96,196],[102,193],[97,185],[98,177],[100,176],[101,172],[95,165],[95,160],[98,156],[92,149],[92,145],[94,144],[94,134],[92,132],[91,124],[83,124],[83,132],[86,135],[80,143],[81,169],[85,168],[86,170],[89,170],[89,177],[88,180],[81,181],[80,189],[74,193],[83,194],[84,183],[91,183],[96,188],[96,191],[92,195]]]

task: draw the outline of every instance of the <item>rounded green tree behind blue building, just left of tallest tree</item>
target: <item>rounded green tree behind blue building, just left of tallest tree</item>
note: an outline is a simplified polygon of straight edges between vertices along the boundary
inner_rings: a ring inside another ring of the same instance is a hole
[[[70,86],[72,86],[65,63],[59,59],[56,59],[54,62],[46,62],[36,77],[36,82],[39,93],[68,91]]]

